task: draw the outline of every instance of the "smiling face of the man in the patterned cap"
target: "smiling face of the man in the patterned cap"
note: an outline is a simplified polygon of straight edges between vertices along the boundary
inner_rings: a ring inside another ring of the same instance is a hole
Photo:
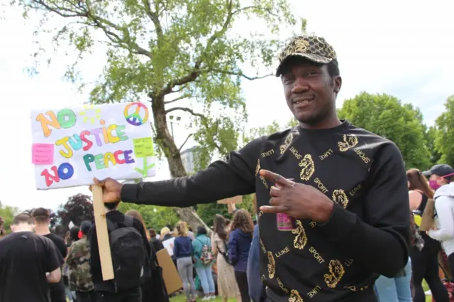
[[[336,112],[342,80],[329,75],[328,65],[290,58],[281,80],[287,105],[299,122],[316,125]]]

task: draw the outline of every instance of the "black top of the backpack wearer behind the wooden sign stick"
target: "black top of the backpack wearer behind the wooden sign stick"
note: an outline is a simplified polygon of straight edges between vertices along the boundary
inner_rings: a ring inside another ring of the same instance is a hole
[[[125,221],[125,215],[119,211],[111,211],[106,213],[106,219],[111,220],[114,223],[120,223]],[[145,229],[143,228],[142,222],[134,218],[133,226],[137,229],[143,237],[143,245],[147,249],[147,254],[151,253],[150,242],[148,242],[147,235],[145,234]],[[114,282],[111,280],[104,281],[102,279],[101,271],[101,259],[99,257],[99,246],[98,246],[98,236],[96,235],[96,225],[93,225],[89,231],[88,235],[89,244],[90,244],[90,270],[92,271],[92,280],[96,291],[109,291],[114,292],[115,286]]]

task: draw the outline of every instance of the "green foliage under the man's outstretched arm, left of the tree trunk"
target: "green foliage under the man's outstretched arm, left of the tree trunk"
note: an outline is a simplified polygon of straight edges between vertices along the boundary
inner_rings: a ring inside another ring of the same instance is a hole
[[[162,227],[167,224],[175,226],[178,222],[177,214],[171,207],[155,207],[153,205],[135,205],[133,203],[121,203],[118,206],[120,212],[126,213],[128,210],[138,210],[149,229],[155,229],[159,234]]]

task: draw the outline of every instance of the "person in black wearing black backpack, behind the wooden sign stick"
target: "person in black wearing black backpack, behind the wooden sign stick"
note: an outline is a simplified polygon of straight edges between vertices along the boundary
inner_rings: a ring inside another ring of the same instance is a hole
[[[140,242],[143,243],[143,249],[138,251],[137,249],[133,249],[132,252],[134,254],[130,255],[125,252],[125,250],[121,249],[121,244],[116,245],[116,248],[113,248],[112,240],[110,239],[111,243],[111,254],[112,259],[116,257],[122,258],[122,261],[125,261],[124,268],[121,266],[114,267],[115,274],[115,282],[112,280],[103,280],[102,271],[101,271],[101,261],[99,259],[99,246],[98,246],[98,237],[96,234],[96,225],[93,225],[89,232],[89,246],[91,249],[91,257],[90,257],[90,269],[92,271],[92,280],[94,283],[94,290],[96,291],[96,301],[98,302],[142,302],[142,291],[140,288],[140,271],[143,270],[143,266],[139,267],[138,276],[135,276],[137,271],[133,271],[134,278],[131,278],[130,282],[127,282],[126,276],[123,274],[120,276],[120,272],[118,269],[135,269],[137,268],[137,264],[143,262],[145,265],[146,257],[150,255],[151,247],[148,243],[147,235],[145,234],[145,228],[143,227],[142,222],[135,219],[131,216],[126,216],[122,212],[117,210],[119,202],[117,203],[104,203],[106,207],[106,220],[107,220],[107,227],[109,230],[109,234],[112,232],[116,232],[118,229],[128,228],[128,237],[130,238],[137,238],[140,237],[139,242],[135,242],[134,245],[138,245]],[[131,230],[134,229],[134,230]],[[116,241],[121,243],[119,240]],[[130,239],[131,242],[131,239]],[[126,247],[126,245],[124,245]],[[127,252],[131,251],[128,249]],[[143,254],[138,254],[139,252],[143,252]],[[115,255],[114,255],[115,253]],[[137,254],[136,254],[137,253]],[[143,259],[138,259],[138,257],[144,257]],[[127,274],[128,271],[125,271]],[[131,273],[129,273],[131,274]],[[121,282],[128,283],[128,286],[122,286],[122,289],[118,288],[119,279],[121,278]],[[133,283],[133,281],[137,281]]]

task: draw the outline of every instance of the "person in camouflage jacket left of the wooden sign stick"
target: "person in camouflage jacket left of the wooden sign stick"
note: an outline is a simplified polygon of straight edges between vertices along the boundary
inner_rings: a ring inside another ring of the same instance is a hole
[[[92,222],[84,221],[80,225],[82,237],[71,244],[66,259],[70,271],[70,289],[76,293],[77,302],[96,302],[96,293],[90,271],[90,247],[88,234]]]

